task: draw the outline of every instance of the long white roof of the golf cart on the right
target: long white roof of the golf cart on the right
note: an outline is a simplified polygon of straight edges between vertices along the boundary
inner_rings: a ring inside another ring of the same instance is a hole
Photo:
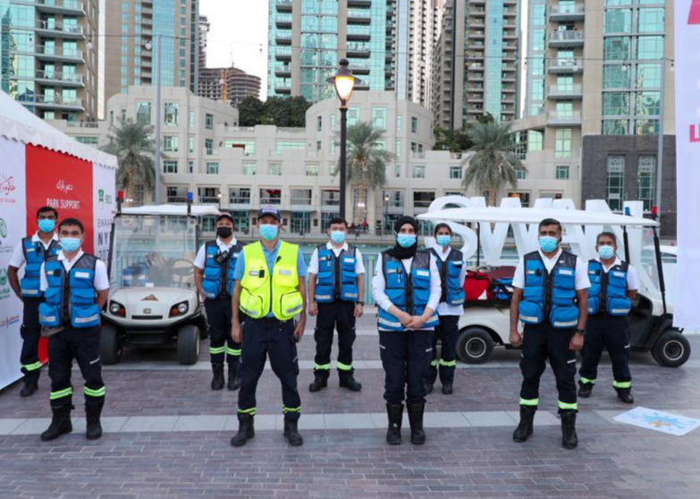
[[[447,208],[419,215],[420,220],[447,220],[462,223],[539,224],[545,218],[555,218],[561,224],[625,225],[628,227],[658,227],[649,218],[614,215],[595,211],[552,208],[462,207]]]

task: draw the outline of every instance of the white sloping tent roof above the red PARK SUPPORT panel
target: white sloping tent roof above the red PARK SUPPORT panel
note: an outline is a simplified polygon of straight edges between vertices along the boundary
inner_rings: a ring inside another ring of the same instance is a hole
[[[31,113],[12,97],[0,91],[0,135],[32,146],[78,157],[90,163],[116,168],[115,156],[80,144]]]

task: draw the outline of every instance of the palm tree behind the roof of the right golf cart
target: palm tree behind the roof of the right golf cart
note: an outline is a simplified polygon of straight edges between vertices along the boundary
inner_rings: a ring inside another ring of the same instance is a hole
[[[472,184],[488,193],[489,205],[496,205],[498,192],[510,184],[518,187],[517,171],[525,169],[519,157],[512,152],[510,124],[472,123],[468,130],[472,153],[462,160],[467,165],[462,187],[467,190]]]

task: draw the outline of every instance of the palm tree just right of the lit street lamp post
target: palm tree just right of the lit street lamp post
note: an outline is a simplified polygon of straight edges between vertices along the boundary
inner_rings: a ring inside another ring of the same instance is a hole
[[[384,131],[377,130],[372,123],[357,123],[348,127],[347,180],[358,188],[358,210],[361,224],[367,218],[367,198],[370,189],[378,189],[386,183],[386,165],[395,157],[381,147]],[[336,143],[340,146],[340,143]],[[340,173],[340,167],[335,173]]]

